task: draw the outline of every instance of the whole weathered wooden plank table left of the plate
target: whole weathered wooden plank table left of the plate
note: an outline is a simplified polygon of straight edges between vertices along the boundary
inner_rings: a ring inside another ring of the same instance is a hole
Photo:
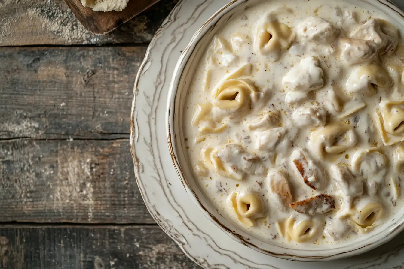
[[[0,269],[198,268],[143,204],[128,139],[176,2],[95,36],[63,0],[0,1]]]

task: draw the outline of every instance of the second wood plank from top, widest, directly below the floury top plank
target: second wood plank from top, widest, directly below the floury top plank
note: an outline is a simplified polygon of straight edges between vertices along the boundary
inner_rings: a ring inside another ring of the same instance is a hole
[[[1,48],[0,139],[128,137],[144,54],[144,47]]]

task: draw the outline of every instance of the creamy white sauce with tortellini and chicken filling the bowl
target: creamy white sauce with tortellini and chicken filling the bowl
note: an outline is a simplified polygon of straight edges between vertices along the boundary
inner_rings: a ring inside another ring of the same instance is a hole
[[[404,54],[384,19],[340,0],[275,0],[217,33],[183,125],[223,216],[272,242],[322,244],[402,208]]]

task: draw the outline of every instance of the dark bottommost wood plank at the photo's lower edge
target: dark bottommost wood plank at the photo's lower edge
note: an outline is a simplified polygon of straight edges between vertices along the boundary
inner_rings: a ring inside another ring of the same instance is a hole
[[[2,227],[0,269],[197,269],[158,226]]]

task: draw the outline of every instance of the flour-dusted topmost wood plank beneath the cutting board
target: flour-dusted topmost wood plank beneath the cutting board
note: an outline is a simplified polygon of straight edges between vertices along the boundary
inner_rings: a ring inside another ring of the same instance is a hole
[[[148,43],[178,0],[161,0],[115,31],[87,31],[64,0],[0,1],[0,46]]]

